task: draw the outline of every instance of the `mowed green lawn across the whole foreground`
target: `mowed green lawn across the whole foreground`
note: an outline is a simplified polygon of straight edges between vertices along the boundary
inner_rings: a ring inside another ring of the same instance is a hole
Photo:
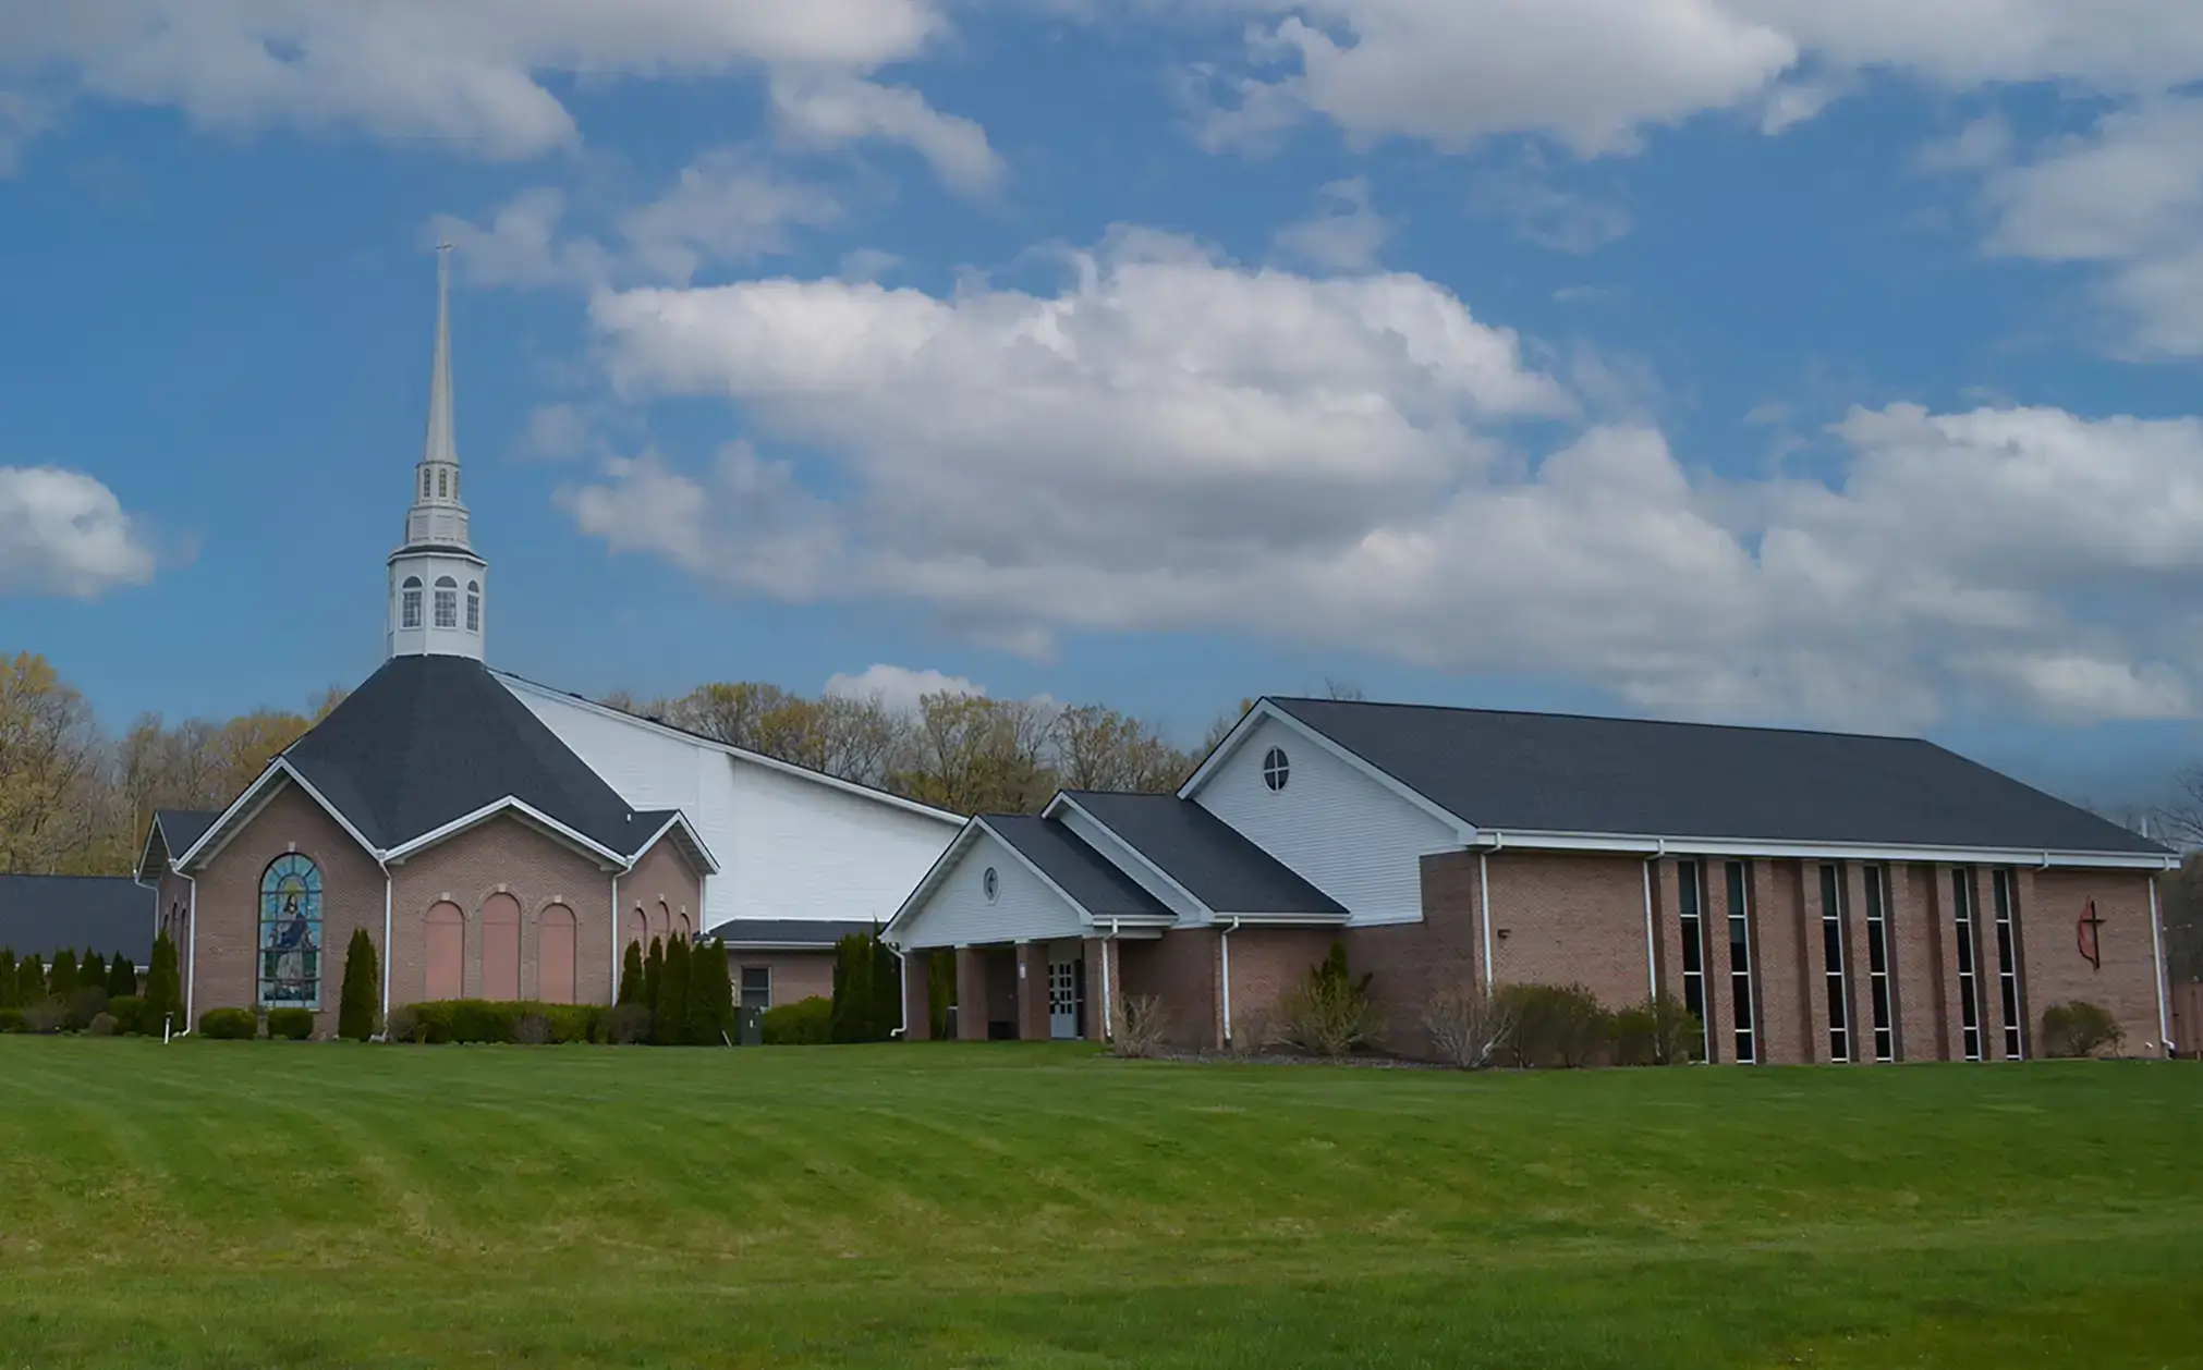
[[[2203,1068],[0,1037],[7,1366],[2199,1366]]]

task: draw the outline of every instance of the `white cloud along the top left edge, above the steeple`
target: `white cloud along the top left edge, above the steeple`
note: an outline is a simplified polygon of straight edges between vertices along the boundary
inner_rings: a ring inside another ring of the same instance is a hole
[[[0,79],[509,161],[579,143],[553,77],[769,70],[793,132],[905,141],[956,178],[991,156],[978,126],[861,79],[943,31],[936,0],[68,0],[0,4]]]

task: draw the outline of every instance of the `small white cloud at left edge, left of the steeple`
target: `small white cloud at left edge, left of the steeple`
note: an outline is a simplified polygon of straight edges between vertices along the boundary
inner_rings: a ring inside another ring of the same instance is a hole
[[[0,595],[95,599],[152,573],[152,548],[106,485],[59,467],[0,467]]]

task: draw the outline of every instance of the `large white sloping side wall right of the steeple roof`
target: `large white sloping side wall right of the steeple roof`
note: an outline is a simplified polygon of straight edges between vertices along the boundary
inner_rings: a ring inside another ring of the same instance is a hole
[[[513,694],[634,808],[679,808],[720,872],[727,918],[886,923],[956,837],[949,819],[791,775],[527,685]]]

